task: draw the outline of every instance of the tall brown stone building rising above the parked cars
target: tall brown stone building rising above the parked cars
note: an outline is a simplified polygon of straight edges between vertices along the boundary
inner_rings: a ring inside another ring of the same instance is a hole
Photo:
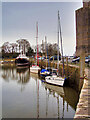
[[[90,55],[90,0],[76,10],[76,56],[80,56],[81,51],[85,56]]]

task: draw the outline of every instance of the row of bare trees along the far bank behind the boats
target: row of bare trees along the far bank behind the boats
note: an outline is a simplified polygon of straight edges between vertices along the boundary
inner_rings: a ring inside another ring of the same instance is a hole
[[[53,56],[57,55],[57,44],[51,44],[43,42],[38,45],[39,56]],[[2,58],[16,58],[20,53],[26,54],[26,56],[35,56],[37,46],[31,47],[30,43],[26,39],[19,39],[16,43],[5,42],[1,46]]]

